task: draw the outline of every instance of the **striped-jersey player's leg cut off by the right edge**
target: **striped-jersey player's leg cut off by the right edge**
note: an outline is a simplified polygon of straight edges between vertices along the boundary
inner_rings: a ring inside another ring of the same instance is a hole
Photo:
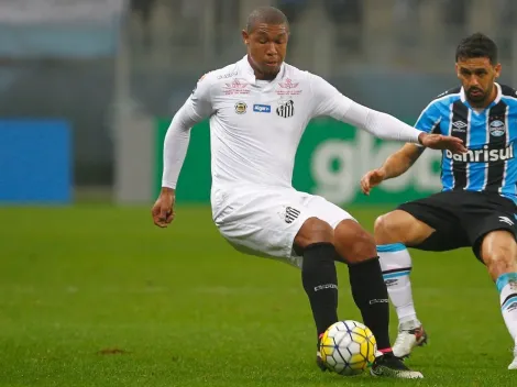
[[[514,232],[492,231],[483,237],[480,255],[499,292],[501,311],[515,342],[514,361],[517,369],[517,243]]]

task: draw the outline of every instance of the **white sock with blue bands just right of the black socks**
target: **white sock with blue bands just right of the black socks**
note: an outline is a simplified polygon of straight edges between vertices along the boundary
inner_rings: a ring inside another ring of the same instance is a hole
[[[413,302],[411,256],[402,243],[383,244],[377,246],[383,269],[384,283],[388,289],[389,299],[397,311],[398,322],[418,321]]]

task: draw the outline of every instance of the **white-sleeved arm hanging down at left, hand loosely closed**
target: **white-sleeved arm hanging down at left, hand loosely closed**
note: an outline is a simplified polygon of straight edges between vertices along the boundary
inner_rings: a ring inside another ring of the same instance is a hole
[[[176,185],[187,155],[190,130],[213,112],[210,90],[210,80],[201,78],[185,104],[174,115],[165,134],[162,191],[152,209],[153,221],[161,228],[167,226],[174,219]]]

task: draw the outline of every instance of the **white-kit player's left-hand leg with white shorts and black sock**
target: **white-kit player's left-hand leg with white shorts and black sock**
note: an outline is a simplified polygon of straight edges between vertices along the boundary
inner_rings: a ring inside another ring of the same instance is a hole
[[[240,190],[215,217],[237,250],[278,258],[301,268],[318,336],[338,321],[338,278],[333,228],[306,206],[307,194],[293,189]]]

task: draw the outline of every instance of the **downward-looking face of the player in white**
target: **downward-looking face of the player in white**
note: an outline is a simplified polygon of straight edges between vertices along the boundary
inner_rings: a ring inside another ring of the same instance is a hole
[[[248,55],[257,78],[274,78],[284,62],[289,33],[284,24],[272,25],[258,23],[249,34],[242,32],[248,46]]]

